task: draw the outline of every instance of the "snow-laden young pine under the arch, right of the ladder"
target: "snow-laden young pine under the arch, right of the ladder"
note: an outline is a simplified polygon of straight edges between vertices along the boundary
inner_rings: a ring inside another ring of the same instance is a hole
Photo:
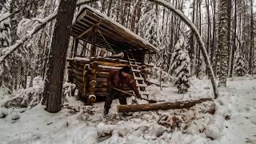
[[[170,61],[170,74],[174,72],[178,78],[175,82],[178,93],[184,94],[190,87],[190,56],[186,50],[185,38],[179,38],[174,48],[174,54]]]

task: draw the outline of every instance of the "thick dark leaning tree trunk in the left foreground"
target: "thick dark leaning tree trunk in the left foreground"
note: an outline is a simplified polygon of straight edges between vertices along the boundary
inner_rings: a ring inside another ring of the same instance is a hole
[[[46,111],[50,113],[62,110],[62,84],[66,53],[76,2],[77,0],[62,0],[58,8],[42,101],[46,104]]]

